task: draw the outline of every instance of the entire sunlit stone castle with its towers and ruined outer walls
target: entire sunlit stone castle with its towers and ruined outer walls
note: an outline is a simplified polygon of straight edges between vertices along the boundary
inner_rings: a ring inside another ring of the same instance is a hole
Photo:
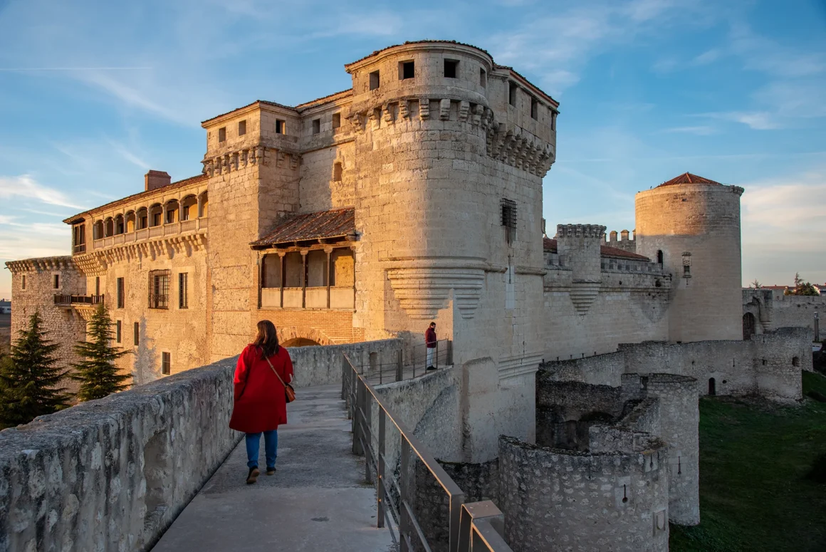
[[[558,102],[456,42],[345,69],[344,92],[204,121],[202,174],[150,171],[64,221],[71,255],[7,263],[13,328],[39,310],[68,363],[103,302],[144,383],[237,355],[262,319],[287,346],[408,349],[437,321],[453,369],[409,424],[441,459],[512,480],[487,494],[523,520],[506,525],[516,550],[667,550],[669,519],[700,521],[698,395],[798,399],[811,363],[807,330],[743,340],[743,188],[682,174],[638,193],[634,240],[549,237]],[[544,516],[565,508],[593,523]]]

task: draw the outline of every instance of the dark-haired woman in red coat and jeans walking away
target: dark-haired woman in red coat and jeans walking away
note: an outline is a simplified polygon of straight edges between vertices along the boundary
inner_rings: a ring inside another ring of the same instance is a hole
[[[278,426],[287,423],[285,384],[291,381],[290,355],[278,345],[273,322],[262,320],[258,323],[255,341],[238,357],[235,402],[230,417],[230,428],[247,434],[247,483],[255,483],[260,473],[258,459],[262,433],[267,475],[275,473]]]

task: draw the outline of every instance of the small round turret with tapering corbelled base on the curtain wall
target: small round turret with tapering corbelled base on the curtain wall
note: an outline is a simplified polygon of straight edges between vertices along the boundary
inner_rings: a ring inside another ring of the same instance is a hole
[[[581,315],[600,293],[603,236],[605,226],[598,224],[557,225],[557,251],[563,264],[572,269],[571,301]]]

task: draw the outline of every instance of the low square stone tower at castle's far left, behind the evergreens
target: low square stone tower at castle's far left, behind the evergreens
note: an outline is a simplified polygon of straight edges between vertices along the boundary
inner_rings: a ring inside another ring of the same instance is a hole
[[[46,339],[59,345],[55,356],[62,369],[78,362],[74,345],[86,339],[86,320],[92,307],[61,307],[55,305],[55,295],[83,295],[86,293],[86,278],[70,257],[46,257],[26,259],[7,263],[12,272],[12,345],[19,338],[19,332],[26,329],[29,318],[40,312]],[[59,285],[55,288],[55,275]],[[26,288],[23,288],[23,278]],[[78,382],[65,379],[61,385],[69,392],[78,390]]]

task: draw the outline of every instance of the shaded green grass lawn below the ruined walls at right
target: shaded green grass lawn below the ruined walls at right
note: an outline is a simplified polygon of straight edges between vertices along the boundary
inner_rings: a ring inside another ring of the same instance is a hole
[[[803,376],[826,395],[826,377]],[[700,399],[700,525],[672,525],[670,550],[824,552],[826,483],[806,478],[818,454],[826,403]]]

